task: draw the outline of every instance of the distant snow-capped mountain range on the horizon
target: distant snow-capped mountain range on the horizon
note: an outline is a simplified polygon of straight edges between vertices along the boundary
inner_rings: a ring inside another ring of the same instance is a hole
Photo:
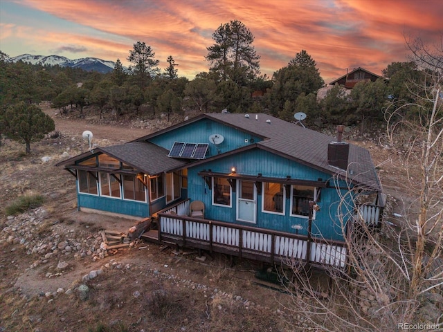
[[[22,54],[11,57],[10,61],[23,61],[28,64],[41,64],[42,66],[55,66],[82,68],[84,71],[98,71],[99,73],[109,73],[114,69],[115,62],[98,59],[96,57],[82,57],[81,59],[68,59],[60,55],[31,55]]]

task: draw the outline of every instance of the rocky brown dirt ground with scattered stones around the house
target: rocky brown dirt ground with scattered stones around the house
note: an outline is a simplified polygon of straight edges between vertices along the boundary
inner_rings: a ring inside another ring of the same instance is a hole
[[[32,154],[26,156],[24,146],[10,140],[0,147],[0,208],[28,192],[46,199],[40,208],[0,217],[0,332],[309,328],[288,309],[291,296],[255,278],[260,264],[239,259],[231,264],[224,255],[199,256],[138,239],[123,239],[127,246],[112,249],[102,230],[126,233],[136,221],[77,211],[75,178],[55,163],[87,151],[82,131],[93,132],[93,145],[114,145],[165,127],[163,118],[104,123],[90,115],[84,120],[45,111],[55,119],[57,133],[33,143]],[[395,212],[404,174],[391,151],[372,137],[347,135],[370,150]],[[377,310],[378,299],[360,296],[362,311]],[[438,301],[430,295],[422,307],[438,313]]]

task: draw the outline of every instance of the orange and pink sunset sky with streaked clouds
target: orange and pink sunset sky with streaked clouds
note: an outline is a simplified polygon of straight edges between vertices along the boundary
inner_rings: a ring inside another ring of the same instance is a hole
[[[0,0],[0,50],[15,57],[98,57],[127,66],[134,43],[152,47],[160,68],[208,71],[212,34],[232,20],[255,37],[262,74],[307,50],[325,82],[358,66],[376,74],[407,60],[405,35],[441,42],[443,0]]]

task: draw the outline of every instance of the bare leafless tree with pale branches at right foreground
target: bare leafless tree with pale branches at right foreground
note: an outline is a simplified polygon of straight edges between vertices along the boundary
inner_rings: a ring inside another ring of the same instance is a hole
[[[292,281],[287,289],[293,301],[286,311],[300,329],[443,328],[443,48],[421,39],[406,45],[422,81],[405,82],[414,102],[398,100],[387,108],[385,146],[404,168],[397,184],[403,188],[388,199],[379,231],[354,209],[365,204],[368,188],[338,190],[341,201],[330,213],[341,216],[347,267],[327,268],[329,285],[302,261],[289,261],[290,273],[284,275]],[[334,181],[338,188],[341,179]]]

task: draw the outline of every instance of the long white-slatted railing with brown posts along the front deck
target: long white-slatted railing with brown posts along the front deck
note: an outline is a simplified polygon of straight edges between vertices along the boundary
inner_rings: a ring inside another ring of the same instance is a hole
[[[159,240],[271,263],[300,260],[339,268],[346,264],[345,243],[341,241],[171,213],[159,213]]]

